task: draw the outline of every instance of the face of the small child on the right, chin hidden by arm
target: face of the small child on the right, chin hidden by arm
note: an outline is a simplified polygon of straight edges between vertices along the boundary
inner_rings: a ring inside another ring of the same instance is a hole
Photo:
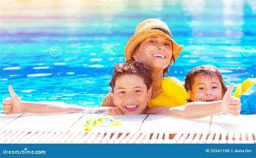
[[[201,76],[194,78],[192,91],[188,91],[192,101],[218,101],[223,98],[223,90],[217,76]]]

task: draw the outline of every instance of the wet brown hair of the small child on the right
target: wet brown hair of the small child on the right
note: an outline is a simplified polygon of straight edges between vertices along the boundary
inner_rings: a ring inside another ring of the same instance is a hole
[[[218,68],[213,65],[202,65],[194,68],[192,71],[188,72],[185,78],[185,89],[186,91],[192,91],[192,85],[194,84],[194,78],[198,75],[203,75],[204,77],[218,77],[223,94],[226,93],[227,88],[225,86],[225,81],[222,78],[221,73],[219,72]]]

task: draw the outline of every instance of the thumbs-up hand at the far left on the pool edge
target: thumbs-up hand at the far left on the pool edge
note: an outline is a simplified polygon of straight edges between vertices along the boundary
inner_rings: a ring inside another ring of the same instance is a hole
[[[6,115],[22,113],[21,99],[19,99],[11,86],[9,86],[9,93],[11,94],[11,98],[4,99],[3,112]]]

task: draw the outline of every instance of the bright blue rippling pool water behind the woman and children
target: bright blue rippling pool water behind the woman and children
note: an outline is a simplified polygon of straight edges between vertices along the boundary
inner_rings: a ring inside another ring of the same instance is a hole
[[[226,84],[255,77],[255,1],[19,1],[2,4],[0,96],[99,106],[138,23],[166,22],[184,45],[169,76],[217,66]]]

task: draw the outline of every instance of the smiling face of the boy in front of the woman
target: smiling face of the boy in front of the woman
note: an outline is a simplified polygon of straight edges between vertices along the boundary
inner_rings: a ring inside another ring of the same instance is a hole
[[[152,88],[147,91],[143,78],[138,75],[124,74],[117,77],[113,90],[112,100],[124,114],[140,114],[150,100]]]

